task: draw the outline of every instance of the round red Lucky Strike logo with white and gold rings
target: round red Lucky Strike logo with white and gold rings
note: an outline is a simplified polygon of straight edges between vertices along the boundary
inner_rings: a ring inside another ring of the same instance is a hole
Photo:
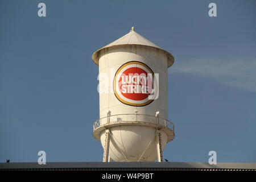
[[[130,61],[118,68],[114,77],[114,94],[123,104],[145,106],[154,99],[155,76],[150,67],[139,61]]]

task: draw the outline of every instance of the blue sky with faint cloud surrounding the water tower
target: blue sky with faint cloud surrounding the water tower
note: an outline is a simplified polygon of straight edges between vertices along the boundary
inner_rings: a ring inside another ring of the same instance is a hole
[[[39,18],[38,3],[47,16]],[[210,2],[217,17],[208,16]],[[0,162],[101,162],[92,53],[135,31],[171,52],[172,162],[256,162],[255,1],[1,1]]]

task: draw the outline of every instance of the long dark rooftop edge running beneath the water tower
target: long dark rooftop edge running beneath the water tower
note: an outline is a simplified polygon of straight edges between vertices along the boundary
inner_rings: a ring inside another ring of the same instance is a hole
[[[49,162],[38,163],[0,163],[0,169],[38,169],[38,168],[201,168],[201,169],[256,169],[256,163],[191,163],[191,162]]]

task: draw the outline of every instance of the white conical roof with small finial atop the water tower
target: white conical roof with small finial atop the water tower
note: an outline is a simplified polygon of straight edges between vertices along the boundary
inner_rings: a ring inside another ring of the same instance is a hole
[[[139,35],[137,32],[134,31],[134,27],[131,28],[131,31],[128,34],[106,45],[105,47],[102,47],[101,49],[98,49],[97,51],[95,51],[92,55],[92,60],[94,61],[95,64],[98,65],[99,53],[102,49],[115,47],[115,46],[123,46],[123,45],[141,45],[141,46],[155,47],[155,48],[161,49],[167,53],[168,67],[171,67],[171,65],[174,64],[174,56],[172,56],[171,53],[167,52],[163,48],[152,43],[150,40],[147,40],[143,36]]]

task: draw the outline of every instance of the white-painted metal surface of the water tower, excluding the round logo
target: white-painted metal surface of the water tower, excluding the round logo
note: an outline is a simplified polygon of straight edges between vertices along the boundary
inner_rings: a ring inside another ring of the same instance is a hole
[[[174,57],[143,38],[132,28],[129,34],[94,52],[92,59],[99,65],[99,73],[108,76],[108,78],[100,79],[100,88],[105,87],[108,91],[100,93],[100,118],[102,118],[100,125],[110,130],[109,157],[117,162],[155,161],[157,159],[156,131],[159,129],[161,149],[164,150],[166,143],[174,138],[173,128],[167,127],[164,119],[160,119],[159,125],[143,125],[138,121],[153,123],[158,119],[154,117],[156,112],[159,112],[158,117],[168,118],[167,69],[174,63]],[[115,73],[122,65],[130,61],[146,65],[154,74],[159,74],[159,97],[148,105],[124,104],[114,93]],[[140,119],[138,119],[138,114]],[[112,115],[118,117],[112,117]],[[148,115],[153,117],[148,117]],[[133,123],[131,125],[127,122]],[[105,147],[105,129],[94,127],[93,131],[94,137],[98,136],[96,139],[101,140],[103,147]]]

